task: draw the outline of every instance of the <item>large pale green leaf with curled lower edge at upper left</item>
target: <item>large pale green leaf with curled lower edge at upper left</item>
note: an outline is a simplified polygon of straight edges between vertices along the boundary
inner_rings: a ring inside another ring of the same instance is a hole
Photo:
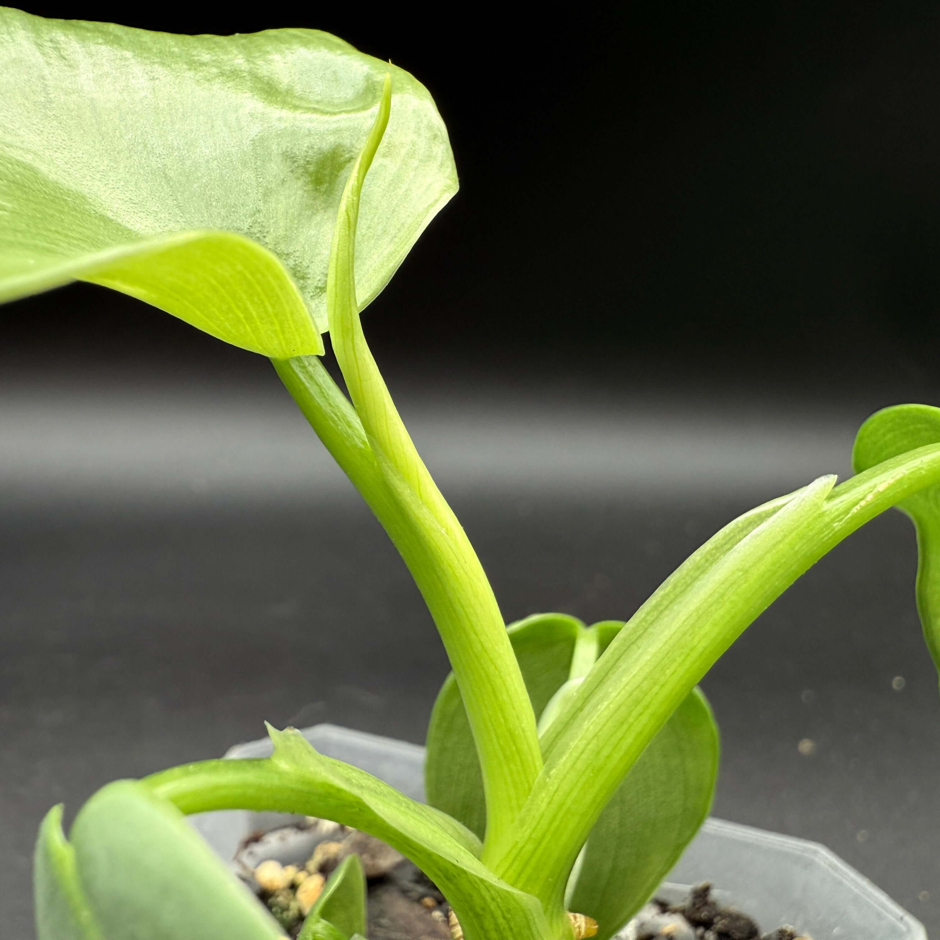
[[[172,36],[5,8],[0,57],[3,300],[83,278],[274,358],[318,353],[337,207],[386,75],[360,306],[457,188],[427,89],[325,33]]]

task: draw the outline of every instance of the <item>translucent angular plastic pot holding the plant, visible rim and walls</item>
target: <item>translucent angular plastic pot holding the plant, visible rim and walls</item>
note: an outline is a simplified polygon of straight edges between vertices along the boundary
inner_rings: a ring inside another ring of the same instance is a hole
[[[361,767],[398,790],[424,799],[424,748],[362,731],[316,725],[304,730],[322,754]],[[227,758],[258,758],[271,754],[265,738],[239,744]],[[193,823],[222,857],[231,860],[243,840],[273,832],[303,817],[242,810],[203,813]],[[281,840],[287,859],[316,839],[303,832]],[[270,852],[270,845],[266,846]],[[754,917],[770,931],[792,924],[813,940],[927,940],[927,932],[880,888],[814,842],[778,836],[737,823],[710,819],[669,874],[663,893],[674,896],[688,885],[711,882],[718,897]]]

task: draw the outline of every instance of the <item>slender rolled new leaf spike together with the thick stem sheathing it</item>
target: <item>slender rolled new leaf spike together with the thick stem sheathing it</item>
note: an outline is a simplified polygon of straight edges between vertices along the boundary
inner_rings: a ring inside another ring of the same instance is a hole
[[[400,509],[398,521],[383,523],[431,608],[461,689],[483,773],[489,842],[501,838],[525,804],[541,770],[541,752],[535,714],[493,590],[405,430],[359,320],[354,250],[359,198],[390,103],[386,82],[378,117],[340,201],[326,288],[330,337],[376,466]],[[407,539],[400,531],[402,516]]]

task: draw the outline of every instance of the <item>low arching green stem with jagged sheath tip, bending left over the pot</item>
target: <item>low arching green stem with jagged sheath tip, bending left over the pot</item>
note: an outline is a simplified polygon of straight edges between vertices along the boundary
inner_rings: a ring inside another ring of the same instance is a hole
[[[467,940],[536,940],[549,932],[539,902],[479,861],[479,840],[461,823],[351,764],[324,757],[296,729],[269,731],[269,759],[204,760],[143,782],[187,813],[270,809],[320,816],[381,838],[444,892]]]

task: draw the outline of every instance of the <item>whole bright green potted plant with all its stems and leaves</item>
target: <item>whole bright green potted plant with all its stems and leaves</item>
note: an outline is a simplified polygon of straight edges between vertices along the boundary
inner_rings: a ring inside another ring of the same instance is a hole
[[[325,817],[384,839],[466,940],[617,932],[709,810],[718,735],[696,683],[820,557],[891,506],[917,525],[917,598],[940,653],[940,410],[874,415],[857,476],[735,519],[626,623],[507,626],[418,456],[360,312],[457,189],[408,73],[309,30],[169,36],[0,12],[0,297],[120,290],[266,355],[415,578],[453,668],[409,799],[294,729],[267,760],[105,786],[36,851],[39,940],[266,940],[278,924],[187,813]],[[345,392],[321,363],[329,337]],[[345,865],[301,936],[364,932]],[[576,916],[572,916],[576,915]]]

